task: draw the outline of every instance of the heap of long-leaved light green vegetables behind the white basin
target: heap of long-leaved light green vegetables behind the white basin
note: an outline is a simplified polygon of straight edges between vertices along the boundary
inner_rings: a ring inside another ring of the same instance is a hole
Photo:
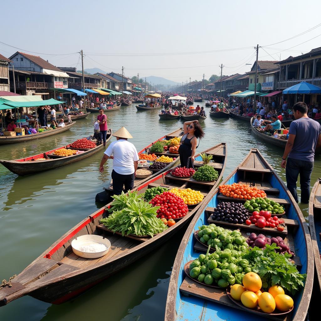
[[[168,227],[156,217],[159,206],[152,206],[141,199],[137,192],[114,195],[113,213],[100,220],[109,230],[119,232],[123,236],[151,236],[166,230]]]

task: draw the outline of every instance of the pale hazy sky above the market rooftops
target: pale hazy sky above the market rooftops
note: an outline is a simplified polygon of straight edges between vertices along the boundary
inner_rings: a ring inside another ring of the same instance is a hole
[[[3,43],[53,65],[81,69],[77,52],[82,49],[84,68],[121,73],[123,65],[126,76],[186,82],[201,80],[203,73],[205,79],[220,74],[221,64],[223,74],[242,74],[251,67],[245,64],[255,61],[256,44],[265,47],[259,60],[321,47],[319,0],[16,0],[1,7],[4,56],[18,49]]]

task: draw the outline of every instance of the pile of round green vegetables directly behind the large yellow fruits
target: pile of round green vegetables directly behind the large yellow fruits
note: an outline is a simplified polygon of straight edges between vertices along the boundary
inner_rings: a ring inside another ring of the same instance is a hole
[[[189,275],[207,285],[218,285],[226,288],[234,283],[242,284],[243,276],[251,272],[251,266],[242,258],[242,252],[226,248],[221,251],[216,246],[216,252],[200,254],[189,266]]]

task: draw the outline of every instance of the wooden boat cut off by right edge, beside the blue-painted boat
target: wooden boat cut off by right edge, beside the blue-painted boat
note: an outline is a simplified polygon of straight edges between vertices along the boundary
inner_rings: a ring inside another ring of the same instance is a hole
[[[316,289],[321,293],[321,178],[314,184],[309,201],[309,227],[315,264]],[[316,293],[317,295],[317,293]],[[318,300],[317,300],[318,301]],[[319,304],[319,302],[317,302]]]

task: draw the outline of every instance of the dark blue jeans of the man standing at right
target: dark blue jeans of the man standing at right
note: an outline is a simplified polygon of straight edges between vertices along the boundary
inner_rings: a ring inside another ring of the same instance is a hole
[[[300,185],[301,185],[301,203],[308,203],[310,196],[310,179],[313,170],[314,162],[296,160],[294,158],[288,158],[285,176],[287,187],[293,195],[296,202],[299,202],[297,194],[297,181],[300,174]]]

